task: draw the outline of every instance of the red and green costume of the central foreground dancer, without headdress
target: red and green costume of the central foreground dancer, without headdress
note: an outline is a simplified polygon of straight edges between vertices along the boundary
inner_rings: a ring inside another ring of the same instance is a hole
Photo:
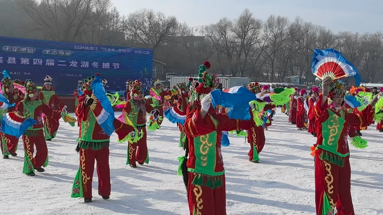
[[[230,119],[210,106],[188,112],[185,131],[189,141],[188,202],[190,215],[226,215],[225,170],[221,155],[222,131],[248,130],[254,121]]]

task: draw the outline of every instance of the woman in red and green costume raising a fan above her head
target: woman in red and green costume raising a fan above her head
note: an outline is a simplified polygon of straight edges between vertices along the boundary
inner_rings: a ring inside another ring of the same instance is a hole
[[[351,200],[350,150],[347,135],[350,126],[366,126],[373,117],[373,101],[358,114],[342,108],[345,102],[346,83],[331,81],[322,83],[322,95],[315,106],[317,142],[315,148],[315,202],[317,215],[354,215]],[[331,98],[334,105],[328,105]]]

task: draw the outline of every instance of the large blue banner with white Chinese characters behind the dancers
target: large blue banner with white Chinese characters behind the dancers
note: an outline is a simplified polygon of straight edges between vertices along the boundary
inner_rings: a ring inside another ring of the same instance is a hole
[[[0,37],[0,48],[0,72],[7,70],[12,80],[31,79],[37,86],[49,75],[59,95],[73,94],[79,80],[95,73],[108,81],[109,92],[124,91],[129,79],[152,85],[151,49],[13,37]]]

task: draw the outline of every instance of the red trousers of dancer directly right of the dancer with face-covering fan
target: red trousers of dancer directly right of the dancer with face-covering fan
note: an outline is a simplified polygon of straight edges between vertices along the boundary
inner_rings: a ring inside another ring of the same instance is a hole
[[[136,161],[140,163],[149,163],[148,159],[148,146],[146,143],[146,127],[143,126],[142,131],[144,136],[137,141],[137,143],[128,143],[128,164],[136,164]]]

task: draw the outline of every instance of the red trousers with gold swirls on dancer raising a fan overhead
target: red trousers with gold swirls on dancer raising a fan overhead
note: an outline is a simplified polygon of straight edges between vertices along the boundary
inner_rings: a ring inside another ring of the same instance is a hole
[[[344,166],[331,164],[319,158],[321,149],[315,151],[315,203],[317,215],[322,215],[324,195],[337,215],[355,215],[351,200],[350,156],[345,157]]]

